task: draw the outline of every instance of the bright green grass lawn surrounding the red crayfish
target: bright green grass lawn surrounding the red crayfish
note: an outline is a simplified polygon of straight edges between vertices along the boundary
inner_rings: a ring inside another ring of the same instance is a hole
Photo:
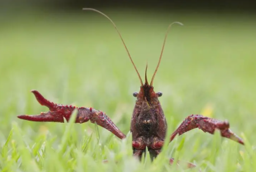
[[[168,136],[189,114],[228,119],[245,146],[200,130],[176,137],[150,163],[132,158],[131,136],[119,140],[92,123],[36,123],[18,114],[48,111],[31,89],[61,104],[93,107],[129,133],[139,79],[116,31],[92,12],[28,13],[0,28],[0,169],[2,171],[186,171],[256,169],[256,25],[253,17],[189,13],[107,11],[116,22],[141,76],[154,72],[170,22],[162,64],[154,81]],[[30,15],[29,15],[30,14]],[[16,19],[15,19],[16,18]],[[240,24],[239,24],[240,23]],[[143,77],[144,78],[144,77]],[[98,128],[98,129],[97,129]],[[98,131],[98,132],[97,132]],[[102,160],[109,162],[104,164]],[[118,163],[115,163],[115,162]]]

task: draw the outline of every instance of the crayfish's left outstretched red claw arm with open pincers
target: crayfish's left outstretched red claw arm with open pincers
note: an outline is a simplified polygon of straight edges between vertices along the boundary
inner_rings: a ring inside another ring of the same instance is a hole
[[[84,123],[87,121],[91,121],[92,123],[97,123],[97,125],[106,128],[108,131],[112,132],[119,138],[125,138],[126,136],[122,133],[115,123],[111,121],[111,119],[103,112],[97,111],[93,108],[86,107],[75,107],[75,106],[64,106],[62,104],[56,104],[45,99],[37,90],[32,90],[37,101],[42,105],[46,106],[50,109],[49,112],[41,112],[38,115],[20,115],[17,116],[22,120],[27,121],[36,121],[36,122],[64,122],[64,118],[69,121],[72,112],[74,109],[77,109],[77,118],[75,123]]]

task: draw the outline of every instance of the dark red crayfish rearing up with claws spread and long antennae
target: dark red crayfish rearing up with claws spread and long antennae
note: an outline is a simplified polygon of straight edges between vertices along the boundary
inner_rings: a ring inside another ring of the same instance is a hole
[[[140,77],[140,74],[134,64],[134,61],[132,60],[130,53],[125,45],[125,42],[122,39],[122,36],[118,31],[115,23],[113,23],[113,21],[104,13],[96,9],[92,9],[92,8],[83,8],[83,9],[96,11],[101,15],[107,17],[108,20],[112,22],[118,35],[121,38],[122,44],[124,44],[125,46],[125,49],[130,58],[130,61],[134,66],[135,71],[138,74],[138,77],[140,80],[139,93],[137,92],[133,93],[133,96],[136,97],[136,103],[135,103],[134,111],[132,113],[131,127],[130,127],[130,131],[132,133],[133,154],[134,156],[139,157],[140,159],[143,153],[145,152],[146,147],[148,147],[150,157],[151,159],[154,159],[160,154],[162,146],[164,145],[165,135],[167,132],[167,121],[165,120],[164,111],[158,100],[158,98],[162,96],[162,93],[154,91],[153,82],[154,82],[155,75],[157,74],[160,61],[162,60],[163,50],[164,50],[165,41],[167,39],[168,32],[170,30],[170,27],[173,25],[173,23],[169,25],[167,32],[165,34],[160,58],[157,64],[157,68],[154,71],[151,82],[150,83],[148,82],[148,78],[146,75],[148,65],[146,65],[145,82],[143,83],[143,80]],[[178,23],[182,25],[182,23],[179,23],[179,22],[174,22],[174,23]],[[41,112],[41,114],[33,115],[33,116],[28,116],[28,115],[18,116],[18,118],[22,120],[36,121],[36,122],[64,122],[64,118],[65,120],[69,121],[72,112],[74,111],[74,109],[77,109],[77,116],[75,119],[75,123],[84,123],[84,122],[91,121],[92,123],[97,123],[97,125],[103,128],[106,128],[108,131],[112,132],[118,138],[121,138],[121,139],[126,138],[126,135],[122,131],[120,131],[118,127],[115,125],[115,123],[113,123],[111,119],[106,115],[106,113],[102,111],[98,111],[94,108],[88,108],[88,107],[75,107],[71,105],[64,106],[62,104],[56,104],[45,99],[39,92],[37,92],[37,90],[32,90],[31,92],[34,93],[37,101],[42,106],[46,106],[49,108],[49,112]],[[211,134],[214,134],[215,130],[217,129],[220,131],[222,137],[230,138],[231,140],[239,142],[242,145],[244,144],[243,140],[241,140],[241,138],[236,136],[235,133],[233,133],[229,129],[229,122],[215,120],[213,118],[205,117],[200,114],[189,115],[181,123],[181,125],[177,128],[177,130],[172,133],[169,140],[167,141],[172,141],[176,135],[182,135],[183,133],[190,131],[194,128],[199,128],[203,132],[208,132]],[[170,162],[171,161],[173,161],[173,159],[171,159]]]

